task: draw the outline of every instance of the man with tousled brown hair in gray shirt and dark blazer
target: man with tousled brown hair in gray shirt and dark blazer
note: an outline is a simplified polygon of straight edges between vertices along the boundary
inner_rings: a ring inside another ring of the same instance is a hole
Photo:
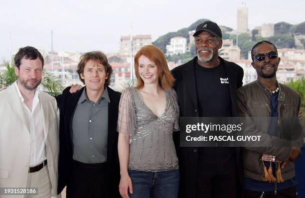
[[[58,193],[67,198],[119,198],[118,107],[121,94],[110,85],[105,54],[85,53],[77,73],[86,85],[58,96],[60,109]]]

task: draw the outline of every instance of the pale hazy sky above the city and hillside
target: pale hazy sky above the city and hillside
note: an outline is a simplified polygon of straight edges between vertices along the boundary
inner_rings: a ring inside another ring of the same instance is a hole
[[[246,3],[243,5],[242,2]],[[120,37],[151,34],[152,41],[167,32],[188,27],[200,18],[236,30],[237,8],[248,7],[248,28],[264,23],[304,22],[304,0],[54,0],[1,2],[0,59],[31,45],[51,50],[51,30],[55,51],[86,52],[101,50],[119,52]]]

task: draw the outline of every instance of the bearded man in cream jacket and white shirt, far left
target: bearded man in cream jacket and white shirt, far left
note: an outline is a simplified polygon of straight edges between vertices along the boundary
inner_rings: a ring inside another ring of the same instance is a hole
[[[57,103],[37,89],[44,63],[37,49],[20,48],[14,61],[17,81],[0,92],[0,198],[28,197],[20,188],[49,198],[57,193]]]

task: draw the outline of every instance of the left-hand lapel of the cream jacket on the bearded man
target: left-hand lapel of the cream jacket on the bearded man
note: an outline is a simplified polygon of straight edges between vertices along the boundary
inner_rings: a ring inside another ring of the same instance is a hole
[[[7,88],[7,95],[8,95],[7,100],[8,100],[8,103],[9,103],[11,109],[13,109],[13,111],[17,115],[17,117],[26,126],[27,131],[29,133],[29,125],[28,125],[28,123],[25,122],[26,119],[25,119],[25,115],[24,115],[23,106],[21,104],[21,100],[17,93],[14,83]]]

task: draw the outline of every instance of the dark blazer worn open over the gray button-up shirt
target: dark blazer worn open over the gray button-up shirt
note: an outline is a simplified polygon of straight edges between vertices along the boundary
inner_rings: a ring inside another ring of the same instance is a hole
[[[118,155],[118,112],[121,93],[115,92],[106,86],[110,98],[108,105],[108,145],[107,145],[107,165],[109,181],[109,198],[121,198],[119,193],[120,183],[120,164]],[[58,162],[58,194],[67,186],[72,163],[72,142],[70,135],[70,121],[77,102],[84,90],[74,94],[69,92],[70,87],[66,88],[62,95],[56,97],[60,110],[59,124],[59,162]]]

